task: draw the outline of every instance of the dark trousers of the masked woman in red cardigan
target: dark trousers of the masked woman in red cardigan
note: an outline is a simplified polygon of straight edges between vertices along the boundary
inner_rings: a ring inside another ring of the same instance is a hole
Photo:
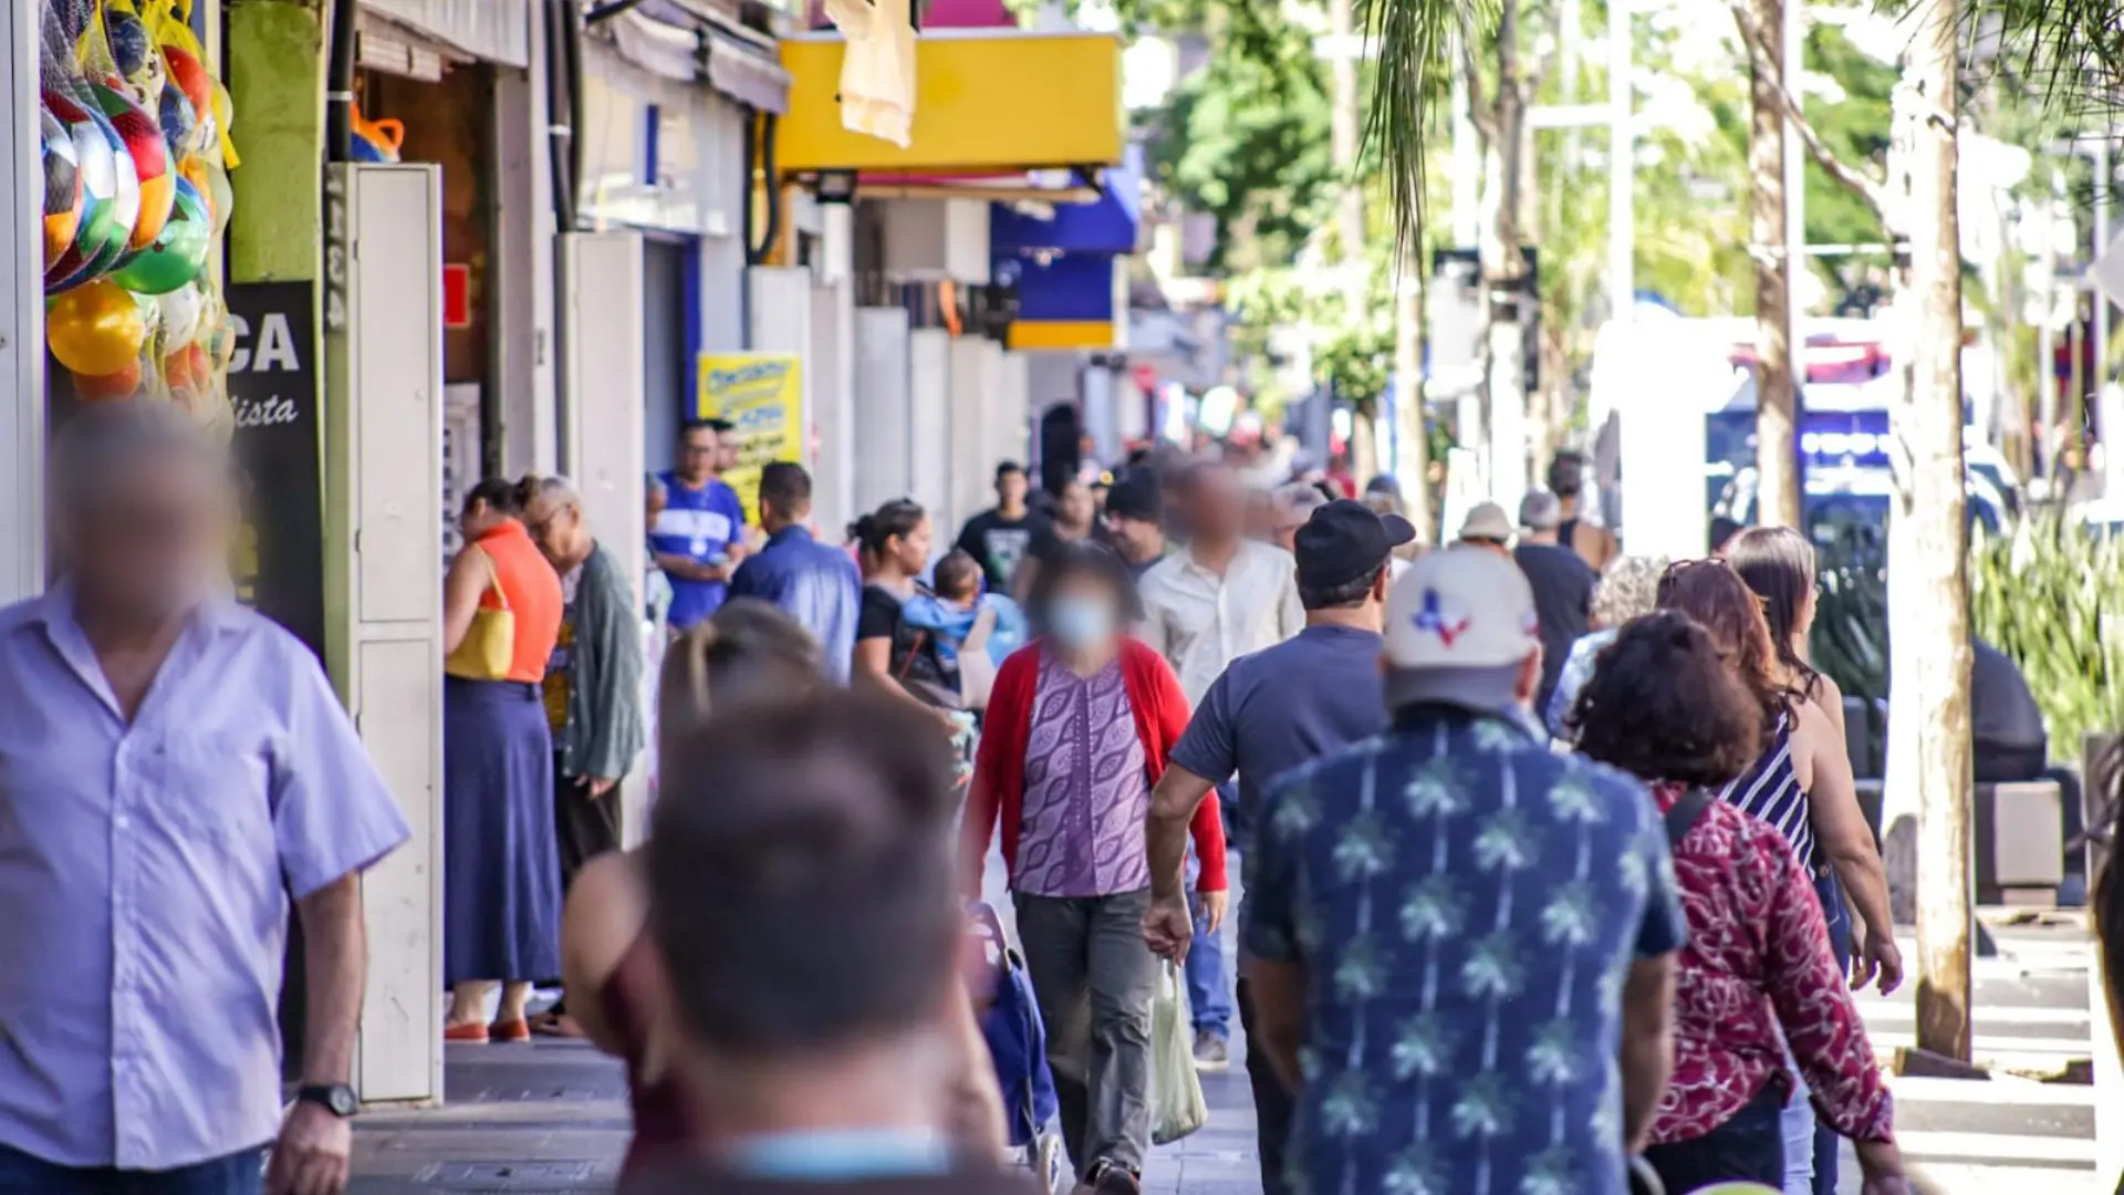
[[[1098,1161],[1143,1169],[1151,1146],[1151,997],[1143,946],[1151,891],[1102,897],[1017,893],[1017,940],[1047,1023],[1047,1070],[1077,1178]]]

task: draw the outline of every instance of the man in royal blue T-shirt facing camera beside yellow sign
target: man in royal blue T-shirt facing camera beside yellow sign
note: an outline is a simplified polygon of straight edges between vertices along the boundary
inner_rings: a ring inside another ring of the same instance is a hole
[[[656,566],[671,580],[673,632],[722,606],[731,574],[746,557],[746,504],[722,481],[737,464],[737,430],[722,419],[692,419],[678,434],[678,468],[663,474],[665,508],[650,525]]]

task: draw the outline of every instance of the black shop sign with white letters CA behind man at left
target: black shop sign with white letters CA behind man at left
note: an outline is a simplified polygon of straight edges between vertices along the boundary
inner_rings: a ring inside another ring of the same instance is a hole
[[[325,657],[325,504],[319,459],[316,289],[229,287],[229,406],[244,474],[238,595]]]

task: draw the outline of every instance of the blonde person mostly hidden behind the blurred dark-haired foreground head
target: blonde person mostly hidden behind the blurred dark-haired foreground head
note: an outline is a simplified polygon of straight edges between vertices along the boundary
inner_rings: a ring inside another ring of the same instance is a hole
[[[735,598],[680,636],[665,653],[658,680],[658,751],[712,714],[801,700],[824,687],[824,659],[801,625],[782,610]],[[624,1172],[690,1152],[699,1106],[673,1070],[680,1025],[663,991],[661,959],[648,938],[648,887],[639,851],[593,859],[567,897],[561,929],[561,972],[584,1036],[627,1061],[635,1140]],[[962,989],[960,989],[962,991]],[[988,1046],[969,1002],[954,1004],[952,1029],[964,1046],[956,1093],[954,1140],[969,1148],[1003,1148],[1003,1097]]]

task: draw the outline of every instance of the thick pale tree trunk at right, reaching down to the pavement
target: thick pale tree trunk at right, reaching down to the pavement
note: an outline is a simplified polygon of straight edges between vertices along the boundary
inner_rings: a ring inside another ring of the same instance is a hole
[[[1890,413],[1901,485],[1888,523],[1888,778],[1916,802],[1918,1046],[1969,1059],[1971,759],[1963,491],[1963,272],[1956,4],[1924,0],[1897,96],[1909,162],[1909,387]]]

